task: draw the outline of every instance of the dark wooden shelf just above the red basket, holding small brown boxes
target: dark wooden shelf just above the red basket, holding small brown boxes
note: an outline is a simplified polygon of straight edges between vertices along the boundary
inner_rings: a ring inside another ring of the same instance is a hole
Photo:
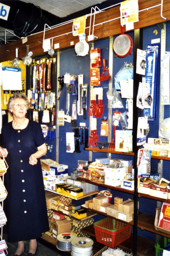
[[[114,218],[114,217],[112,217],[112,216],[110,216],[110,215],[108,215],[104,212],[98,212],[94,209],[89,209],[89,208],[83,207],[83,206],[82,206],[82,208],[88,209],[89,211],[92,211],[92,212],[96,212],[100,215],[104,215],[105,217],[116,219],[116,218]],[[122,220],[119,220],[119,221],[122,221]],[[133,221],[130,221],[130,222],[123,221],[123,222],[125,222],[127,224],[130,224],[130,225],[134,224]],[[160,236],[166,236],[167,238],[170,238],[170,235],[156,230],[154,222],[155,222],[155,216],[149,215],[149,214],[144,213],[144,212],[138,212],[138,227],[139,228],[142,228],[144,230],[147,230],[147,231],[150,231],[152,233],[158,234]]]

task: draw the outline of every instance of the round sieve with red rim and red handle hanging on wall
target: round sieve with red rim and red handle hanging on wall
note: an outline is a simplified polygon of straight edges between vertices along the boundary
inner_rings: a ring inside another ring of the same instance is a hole
[[[127,35],[124,34],[124,26],[120,26],[121,28],[121,35],[119,35],[114,43],[113,43],[113,49],[116,53],[116,56],[119,57],[125,57],[127,56],[129,53],[132,54],[132,47],[133,47],[133,41],[132,38]]]

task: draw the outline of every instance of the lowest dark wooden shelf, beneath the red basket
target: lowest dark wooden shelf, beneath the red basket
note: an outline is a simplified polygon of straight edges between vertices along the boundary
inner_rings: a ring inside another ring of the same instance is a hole
[[[82,232],[95,237],[95,231],[93,225],[85,227],[82,229]],[[137,255],[138,256],[155,256],[155,247],[156,242],[144,239],[138,236],[138,246],[137,246]],[[98,243],[99,244],[99,243]],[[133,252],[133,235],[131,234],[130,238],[118,245],[119,248]]]

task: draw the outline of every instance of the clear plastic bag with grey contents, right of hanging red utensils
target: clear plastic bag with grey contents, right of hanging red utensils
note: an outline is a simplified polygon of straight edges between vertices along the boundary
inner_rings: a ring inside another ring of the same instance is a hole
[[[124,108],[120,93],[116,91],[115,88],[112,88],[112,92],[107,92],[108,97],[108,108]]]

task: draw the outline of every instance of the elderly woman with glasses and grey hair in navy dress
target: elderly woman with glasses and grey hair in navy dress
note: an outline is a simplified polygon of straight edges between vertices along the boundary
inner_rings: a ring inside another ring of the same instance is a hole
[[[18,242],[14,256],[24,252],[29,242],[28,256],[37,255],[37,238],[49,230],[40,157],[46,151],[40,124],[27,119],[27,97],[15,93],[8,102],[14,120],[2,128],[0,150],[8,163],[8,241]]]

